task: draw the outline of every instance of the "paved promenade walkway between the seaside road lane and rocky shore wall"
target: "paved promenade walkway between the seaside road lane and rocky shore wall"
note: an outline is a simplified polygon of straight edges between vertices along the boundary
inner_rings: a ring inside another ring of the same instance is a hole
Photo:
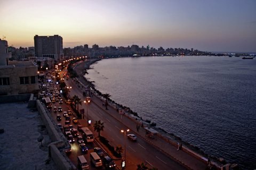
[[[82,70],[84,69],[84,64],[81,63],[75,67],[76,72],[78,75],[81,75]],[[87,82],[84,80],[82,76],[78,78],[78,80],[83,83],[84,85],[87,84]],[[84,88],[81,88],[81,90],[84,90]],[[153,138],[149,138],[146,135],[146,129],[147,128],[144,123],[143,128],[141,127],[141,121],[140,119],[135,120],[135,118],[130,117],[129,115],[123,115],[121,120],[121,115],[118,114],[117,110],[113,107],[108,106],[108,109],[104,108],[102,106],[102,99],[94,96],[92,97],[92,102],[97,104],[99,107],[101,107],[105,112],[107,112],[109,115],[115,117],[115,119],[119,122],[122,122],[127,128],[133,130],[135,132],[135,135],[140,136],[147,140],[151,145],[157,147],[159,150],[162,150],[165,152],[165,154],[172,157],[174,160],[182,164],[183,166],[187,167],[188,169],[193,170],[204,170],[207,168],[207,159],[196,154],[195,152],[189,150],[188,148],[182,146],[180,150],[178,149],[178,143],[174,143],[173,141],[168,140],[163,135],[158,134],[157,136],[154,135]],[[79,120],[80,121],[80,120]],[[85,120],[81,120],[81,124],[87,125],[87,123],[84,122]],[[139,131],[137,131],[137,125],[140,125]],[[129,169],[126,167],[125,169]]]

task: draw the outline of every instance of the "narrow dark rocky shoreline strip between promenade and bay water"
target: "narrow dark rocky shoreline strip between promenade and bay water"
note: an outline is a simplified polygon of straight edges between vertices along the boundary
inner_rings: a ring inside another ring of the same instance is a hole
[[[94,88],[94,84],[91,81],[88,81],[84,75],[87,74],[87,70],[90,69],[90,65],[100,61],[101,59],[98,60],[93,60],[93,61],[86,61],[86,62],[81,62],[79,64],[77,64],[74,67],[74,70],[76,70],[77,74],[79,75],[78,80],[83,83],[85,86],[90,86],[94,92],[97,92],[97,94],[99,96],[102,97],[102,94],[99,90]],[[102,97],[103,98],[103,97]],[[227,162],[225,159],[223,158],[217,158],[215,156],[212,155],[208,155],[205,154],[204,151],[202,151],[200,148],[190,145],[188,142],[183,141],[180,137],[175,136],[172,133],[168,133],[165,130],[163,130],[162,128],[157,128],[155,127],[154,124],[150,124],[149,121],[147,120],[142,120],[141,117],[139,117],[139,115],[136,112],[133,112],[129,107],[123,106],[121,104],[117,104],[115,103],[115,101],[112,101],[111,99],[109,99],[109,106],[113,107],[113,108],[122,108],[125,111],[125,114],[128,115],[130,118],[132,118],[134,121],[137,122],[143,122],[144,125],[149,126],[152,129],[155,129],[156,131],[158,131],[158,136],[164,138],[165,140],[169,141],[170,143],[172,143],[173,145],[177,145],[177,143],[182,143],[182,146],[187,147],[189,150],[193,151],[196,153],[196,155],[198,155],[199,157],[205,157],[207,159],[210,159],[210,161],[212,163],[214,163],[217,167],[221,167],[223,165],[226,165]],[[229,169],[241,169],[237,164],[230,164],[229,165]]]

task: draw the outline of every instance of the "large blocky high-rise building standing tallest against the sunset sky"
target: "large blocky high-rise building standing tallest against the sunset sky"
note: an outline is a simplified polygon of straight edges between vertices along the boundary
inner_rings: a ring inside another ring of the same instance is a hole
[[[34,37],[35,56],[50,57],[58,63],[63,59],[63,42],[59,35],[54,36],[38,36]]]

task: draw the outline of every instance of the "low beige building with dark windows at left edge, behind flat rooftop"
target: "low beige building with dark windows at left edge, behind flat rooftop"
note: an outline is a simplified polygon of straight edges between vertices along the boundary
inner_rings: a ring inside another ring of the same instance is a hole
[[[0,39],[0,95],[37,93],[37,65],[31,61],[9,61],[7,41]]]

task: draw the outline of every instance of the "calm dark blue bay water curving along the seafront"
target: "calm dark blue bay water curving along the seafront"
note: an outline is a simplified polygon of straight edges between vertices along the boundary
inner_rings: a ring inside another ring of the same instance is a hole
[[[206,154],[256,168],[256,60],[111,58],[91,68],[86,78],[95,88],[143,120]]]

